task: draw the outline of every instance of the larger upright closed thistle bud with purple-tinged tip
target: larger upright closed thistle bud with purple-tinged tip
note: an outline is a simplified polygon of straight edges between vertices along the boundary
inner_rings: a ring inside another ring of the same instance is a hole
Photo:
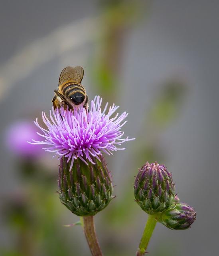
[[[134,196],[148,214],[162,212],[174,202],[175,185],[172,174],[157,162],[142,166],[134,183]]]

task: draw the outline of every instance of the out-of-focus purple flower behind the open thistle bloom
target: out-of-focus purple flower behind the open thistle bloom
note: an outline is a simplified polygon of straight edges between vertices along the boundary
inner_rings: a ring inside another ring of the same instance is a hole
[[[37,157],[41,155],[41,147],[28,143],[28,140],[39,140],[36,126],[29,121],[11,124],[6,131],[5,143],[10,151],[22,157]]]

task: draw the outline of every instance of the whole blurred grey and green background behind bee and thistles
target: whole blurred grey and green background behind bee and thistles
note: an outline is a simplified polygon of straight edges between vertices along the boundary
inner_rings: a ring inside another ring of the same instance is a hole
[[[4,1],[0,8],[0,255],[90,255],[59,202],[58,160],[26,140],[51,109],[65,66],[83,66],[89,98],[127,111],[126,150],[107,158],[114,195],[95,216],[106,256],[133,256],[147,219],[134,202],[146,160],[165,164],[192,228],[157,224],[154,256],[217,255],[219,2]]]

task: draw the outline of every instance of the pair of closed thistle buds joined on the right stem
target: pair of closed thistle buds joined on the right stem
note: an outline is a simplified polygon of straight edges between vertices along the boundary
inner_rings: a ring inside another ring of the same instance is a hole
[[[195,220],[195,211],[181,203],[175,194],[172,174],[164,165],[146,162],[134,182],[134,196],[139,206],[172,230],[188,228]]]

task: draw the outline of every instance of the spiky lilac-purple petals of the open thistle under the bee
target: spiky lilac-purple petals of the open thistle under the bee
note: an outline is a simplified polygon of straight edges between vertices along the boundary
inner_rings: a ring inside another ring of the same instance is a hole
[[[91,101],[90,111],[87,113],[82,106],[74,107],[74,111],[56,108],[50,110],[50,120],[42,112],[42,119],[47,130],[42,128],[36,119],[36,126],[42,134],[37,133],[44,138],[44,141],[32,140],[32,144],[48,145],[43,148],[45,151],[54,152],[59,158],[65,156],[67,162],[71,160],[70,170],[73,166],[74,159],[80,158],[87,164],[87,160],[95,164],[92,157],[98,160],[102,152],[112,154],[112,151],[123,150],[117,148],[122,143],[133,140],[122,138],[124,132],[120,129],[126,123],[124,119],[128,114],[123,112],[120,116],[110,118],[119,108],[114,104],[107,110],[105,106],[101,112],[102,98],[96,96]],[[124,122],[123,122],[124,121]]]

